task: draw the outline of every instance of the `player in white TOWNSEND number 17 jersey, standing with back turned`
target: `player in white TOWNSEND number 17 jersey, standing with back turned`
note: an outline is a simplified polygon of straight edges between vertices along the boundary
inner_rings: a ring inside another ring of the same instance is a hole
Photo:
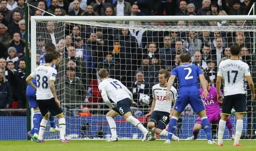
[[[223,135],[228,116],[231,115],[232,107],[236,110],[236,132],[233,146],[242,146],[239,139],[243,130],[243,114],[246,113],[246,95],[243,88],[243,78],[252,91],[252,100],[255,98],[254,83],[250,76],[250,68],[247,63],[239,60],[240,48],[238,45],[232,45],[230,48],[231,57],[228,60],[221,61],[217,73],[217,100],[222,103],[220,94],[221,79],[224,77],[224,100],[222,106],[221,120],[219,122],[218,146],[223,146]]]

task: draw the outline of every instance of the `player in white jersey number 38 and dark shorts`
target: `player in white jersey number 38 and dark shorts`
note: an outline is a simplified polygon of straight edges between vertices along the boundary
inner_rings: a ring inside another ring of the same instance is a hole
[[[29,75],[29,77],[26,78],[26,82],[36,90],[36,101],[43,116],[43,119],[40,123],[39,136],[38,140],[36,141],[37,143],[45,142],[43,140],[43,133],[45,132],[45,128],[50,117],[49,111],[53,116],[57,116],[58,118],[59,131],[61,136],[61,140],[59,141],[62,143],[69,143],[69,141],[65,138],[66,120],[61,109],[61,103],[57,98],[55,90],[57,71],[55,68],[51,67],[52,63],[55,63],[56,65],[59,64],[60,56],[61,54],[59,54],[59,57],[57,57],[58,59],[54,59],[53,52],[47,53],[45,55],[46,64],[37,67]],[[32,79],[35,77],[37,86],[32,83]]]

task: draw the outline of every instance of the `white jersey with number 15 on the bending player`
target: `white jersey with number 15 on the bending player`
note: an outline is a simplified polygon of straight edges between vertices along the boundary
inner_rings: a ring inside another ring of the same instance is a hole
[[[129,90],[119,80],[116,79],[104,79],[99,84],[99,90],[101,92],[101,96],[107,95],[115,103],[123,100],[124,98],[130,98],[127,92]]]

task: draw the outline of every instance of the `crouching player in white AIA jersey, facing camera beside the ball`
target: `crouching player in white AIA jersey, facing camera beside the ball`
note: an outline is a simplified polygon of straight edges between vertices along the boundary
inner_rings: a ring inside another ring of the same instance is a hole
[[[172,102],[174,104],[177,97],[177,90],[172,86],[170,90],[171,98],[170,100],[166,100],[168,74],[168,71],[165,69],[160,69],[158,75],[159,84],[152,87],[153,102],[150,113],[145,115],[146,118],[150,117],[147,126],[151,132],[151,136],[147,141],[156,140],[155,133],[160,136],[168,135],[165,127],[170,121],[169,117],[171,118]],[[172,135],[172,140],[179,141],[179,138]]]

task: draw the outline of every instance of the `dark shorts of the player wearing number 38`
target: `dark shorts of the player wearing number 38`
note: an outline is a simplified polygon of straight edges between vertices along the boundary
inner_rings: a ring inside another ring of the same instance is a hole
[[[47,100],[37,100],[37,103],[43,117],[45,117],[49,111],[53,117],[63,113],[62,109],[58,107],[53,97]]]

